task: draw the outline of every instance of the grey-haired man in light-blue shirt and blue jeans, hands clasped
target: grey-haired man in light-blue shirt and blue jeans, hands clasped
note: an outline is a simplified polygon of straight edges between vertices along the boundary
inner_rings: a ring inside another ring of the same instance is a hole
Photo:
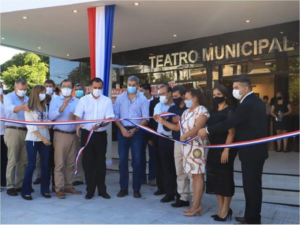
[[[129,76],[127,91],[118,95],[113,105],[114,118],[136,118],[149,116],[149,103],[145,96],[138,94],[139,79]],[[145,125],[148,119],[132,120],[134,123]],[[133,197],[141,197],[139,192],[141,186],[141,151],[143,132],[126,120],[115,121],[118,126],[117,141],[119,154],[120,191],[118,197],[128,194],[128,151],[131,149],[132,165],[132,189]]]

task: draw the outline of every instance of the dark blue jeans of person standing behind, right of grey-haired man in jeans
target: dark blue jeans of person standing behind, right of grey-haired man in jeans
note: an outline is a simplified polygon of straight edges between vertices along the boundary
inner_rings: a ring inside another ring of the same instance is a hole
[[[145,132],[145,131],[143,131]],[[143,147],[141,151],[141,179],[147,180],[146,177],[146,147],[148,145],[148,152],[149,152],[149,162],[148,162],[148,180],[155,180],[155,149],[154,146],[151,146],[147,143],[145,139],[145,135],[143,138]]]

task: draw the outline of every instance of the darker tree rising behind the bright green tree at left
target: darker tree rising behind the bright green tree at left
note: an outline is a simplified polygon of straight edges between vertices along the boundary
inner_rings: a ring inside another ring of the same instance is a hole
[[[2,72],[6,71],[8,67],[11,67],[12,65],[15,66],[22,66],[25,65],[24,63],[24,58],[26,55],[30,54],[30,52],[22,52],[18,53],[12,56],[11,59],[5,61],[3,64],[0,66],[1,74]],[[49,68],[49,57],[41,54],[36,54],[40,58],[40,62],[44,62],[47,64],[47,67]],[[30,63],[30,62],[29,62]],[[31,65],[31,64],[30,64]],[[46,73],[46,78],[49,79],[49,70]]]

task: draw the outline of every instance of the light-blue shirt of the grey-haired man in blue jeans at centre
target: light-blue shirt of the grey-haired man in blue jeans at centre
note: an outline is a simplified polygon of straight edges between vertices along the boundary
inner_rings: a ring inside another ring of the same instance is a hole
[[[136,94],[134,99],[130,101],[128,92],[124,92],[117,96],[113,105],[114,118],[136,118],[149,116],[149,102],[145,96]],[[149,119],[147,119],[149,120]],[[131,120],[140,123],[142,119]],[[121,120],[123,126],[133,126],[132,123]]]

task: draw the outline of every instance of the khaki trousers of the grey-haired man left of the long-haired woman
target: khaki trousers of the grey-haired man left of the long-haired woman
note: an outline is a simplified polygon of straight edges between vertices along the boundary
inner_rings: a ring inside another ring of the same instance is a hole
[[[4,142],[7,146],[6,187],[22,187],[27,166],[25,137],[27,131],[6,128]]]

